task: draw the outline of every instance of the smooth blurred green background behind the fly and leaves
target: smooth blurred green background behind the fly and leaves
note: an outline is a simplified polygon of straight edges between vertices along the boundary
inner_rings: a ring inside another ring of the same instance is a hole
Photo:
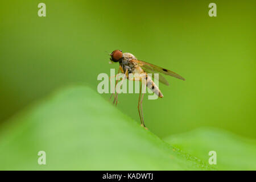
[[[256,2],[214,1],[209,17],[210,2],[1,1],[1,123],[60,86],[97,90],[97,75],[118,68],[107,52],[122,49],[186,78],[167,77],[164,98],[143,102],[159,137],[210,126],[256,138]],[[121,94],[118,109],[139,122],[137,102]]]

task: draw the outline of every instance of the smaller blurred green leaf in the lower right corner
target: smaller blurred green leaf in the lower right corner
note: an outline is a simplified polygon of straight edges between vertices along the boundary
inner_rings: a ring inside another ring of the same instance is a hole
[[[168,143],[208,163],[209,151],[216,151],[219,170],[256,170],[256,141],[228,131],[197,129],[165,138]]]

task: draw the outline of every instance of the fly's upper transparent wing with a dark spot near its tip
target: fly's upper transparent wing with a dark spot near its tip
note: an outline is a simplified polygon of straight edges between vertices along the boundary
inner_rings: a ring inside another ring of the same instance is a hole
[[[175,78],[179,78],[180,80],[185,80],[185,78],[183,78],[180,75],[177,75],[177,73],[172,72],[168,69],[158,67],[157,65],[150,64],[150,63],[147,63],[147,62],[141,61],[141,60],[135,60],[135,59],[130,60],[130,61],[139,65],[140,67],[142,67],[142,69],[147,69],[147,71],[159,72],[159,73],[163,73],[164,75],[169,75],[169,76],[172,76],[172,77],[175,77]],[[159,76],[159,79],[160,79],[160,76]]]

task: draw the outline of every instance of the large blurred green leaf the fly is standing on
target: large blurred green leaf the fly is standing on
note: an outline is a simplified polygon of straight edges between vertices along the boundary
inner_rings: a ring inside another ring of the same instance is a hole
[[[137,114],[137,113],[136,113]],[[38,152],[46,152],[46,165]],[[2,127],[0,169],[207,170],[86,86],[30,106]]]

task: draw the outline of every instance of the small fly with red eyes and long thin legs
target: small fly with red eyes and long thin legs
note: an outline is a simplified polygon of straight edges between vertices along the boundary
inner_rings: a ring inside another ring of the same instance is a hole
[[[161,67],[158,67],[156,65],[147,63],[145,61],[138,60],[134,55],[131,53],[123,53],[122,50],[115,50],[110,55],[110,63],[119,63],[119,71],[125,74],[126,78],[129,78],[129,73],[138,73],[140,77],[133,77],[132,80],[141,81],[146,84],[146,86],[152,90],[158,97],[162,98],[163,94],[159,90],[158,86],[155,85],[154,81],[152,81],[152,78],[148,76],[147,73],[163,73],[164,75],[172,76],[179,78],[180,80],[185,80],[180,75],[177,75],[177,73],[172,72],[168,69],[164,69]],[[142,76],[141,76],[142,75]],[[144,79],[144,80],[143,80]],[[166,78],[164,78],[162,75],[159,74],[159,81],[162,82],[164,85],[169,85]],[[115,82],[115,86],[117,85],[118,80]],[[110,96],[110,100],[112,96],[114,95],[114,102],[113,104],[117,105],[118,100],[118,93],[112,93]],[[142,110],[142,101],[143,101],[144,93],[142,93],[142,84],[140,86],[139,90],[139,101],[138,101],[138,111],[139,111],[139,118],[141,119],[141,126],[145,127],[144,123],[144,117],[143,117],[143,110]],[[146,128],[147,129],[147,128]]]

